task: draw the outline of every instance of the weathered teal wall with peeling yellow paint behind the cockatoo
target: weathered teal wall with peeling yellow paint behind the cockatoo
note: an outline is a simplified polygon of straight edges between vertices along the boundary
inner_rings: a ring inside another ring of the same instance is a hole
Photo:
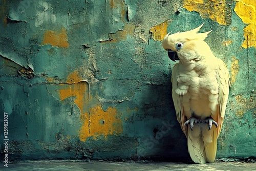
[[[255,157],[255,1],[0,2],[10,160],[187,158],[161,40],[203,22],[232,84],[217,157]]]

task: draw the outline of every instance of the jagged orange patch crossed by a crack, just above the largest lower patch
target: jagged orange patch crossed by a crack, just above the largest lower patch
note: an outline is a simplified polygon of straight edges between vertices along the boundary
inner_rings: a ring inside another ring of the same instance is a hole
[[[78,106],[81,113],[84,113],[86,110],[85,106],[89,106],[88,83],[81,81],[81,78],[76,71],[69,75],[67,78],[67,83],[68,84],[60,84],[60,100],[67,99],[69,97],[75,97],[75,104]]]

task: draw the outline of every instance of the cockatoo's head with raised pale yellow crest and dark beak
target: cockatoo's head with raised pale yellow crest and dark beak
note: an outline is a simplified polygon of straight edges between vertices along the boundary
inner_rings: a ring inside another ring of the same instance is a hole
[[[164,36],[162,46],[168,51],[168,56],[171,60],[187,62],[190,60],[200,60],[203,54],[211,54],[209,46],[204,41],[207,34],[211,31],[197,33],[203,24],[190,31],[174,34],[168,33]]]

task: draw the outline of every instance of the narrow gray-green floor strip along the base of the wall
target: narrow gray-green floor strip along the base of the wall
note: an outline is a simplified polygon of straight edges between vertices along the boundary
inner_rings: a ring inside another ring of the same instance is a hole
[[[9,163],[8,167],[0,165],[0,170],[256,170],[256,163],[215,162],[212,164],[185,164],[171,162],[127,161],[127,162],[59,162],[36,161]]]

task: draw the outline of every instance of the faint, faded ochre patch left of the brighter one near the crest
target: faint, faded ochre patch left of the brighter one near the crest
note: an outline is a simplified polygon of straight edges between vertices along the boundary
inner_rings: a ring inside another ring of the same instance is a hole
[[[125,40],[127,35],[132,35],[134,33],[135,26],[132,24],[126,24],[123,30],[118,30],[116,33],[110,34],[110,41],[105,42],[117,42],[120,40]]]

